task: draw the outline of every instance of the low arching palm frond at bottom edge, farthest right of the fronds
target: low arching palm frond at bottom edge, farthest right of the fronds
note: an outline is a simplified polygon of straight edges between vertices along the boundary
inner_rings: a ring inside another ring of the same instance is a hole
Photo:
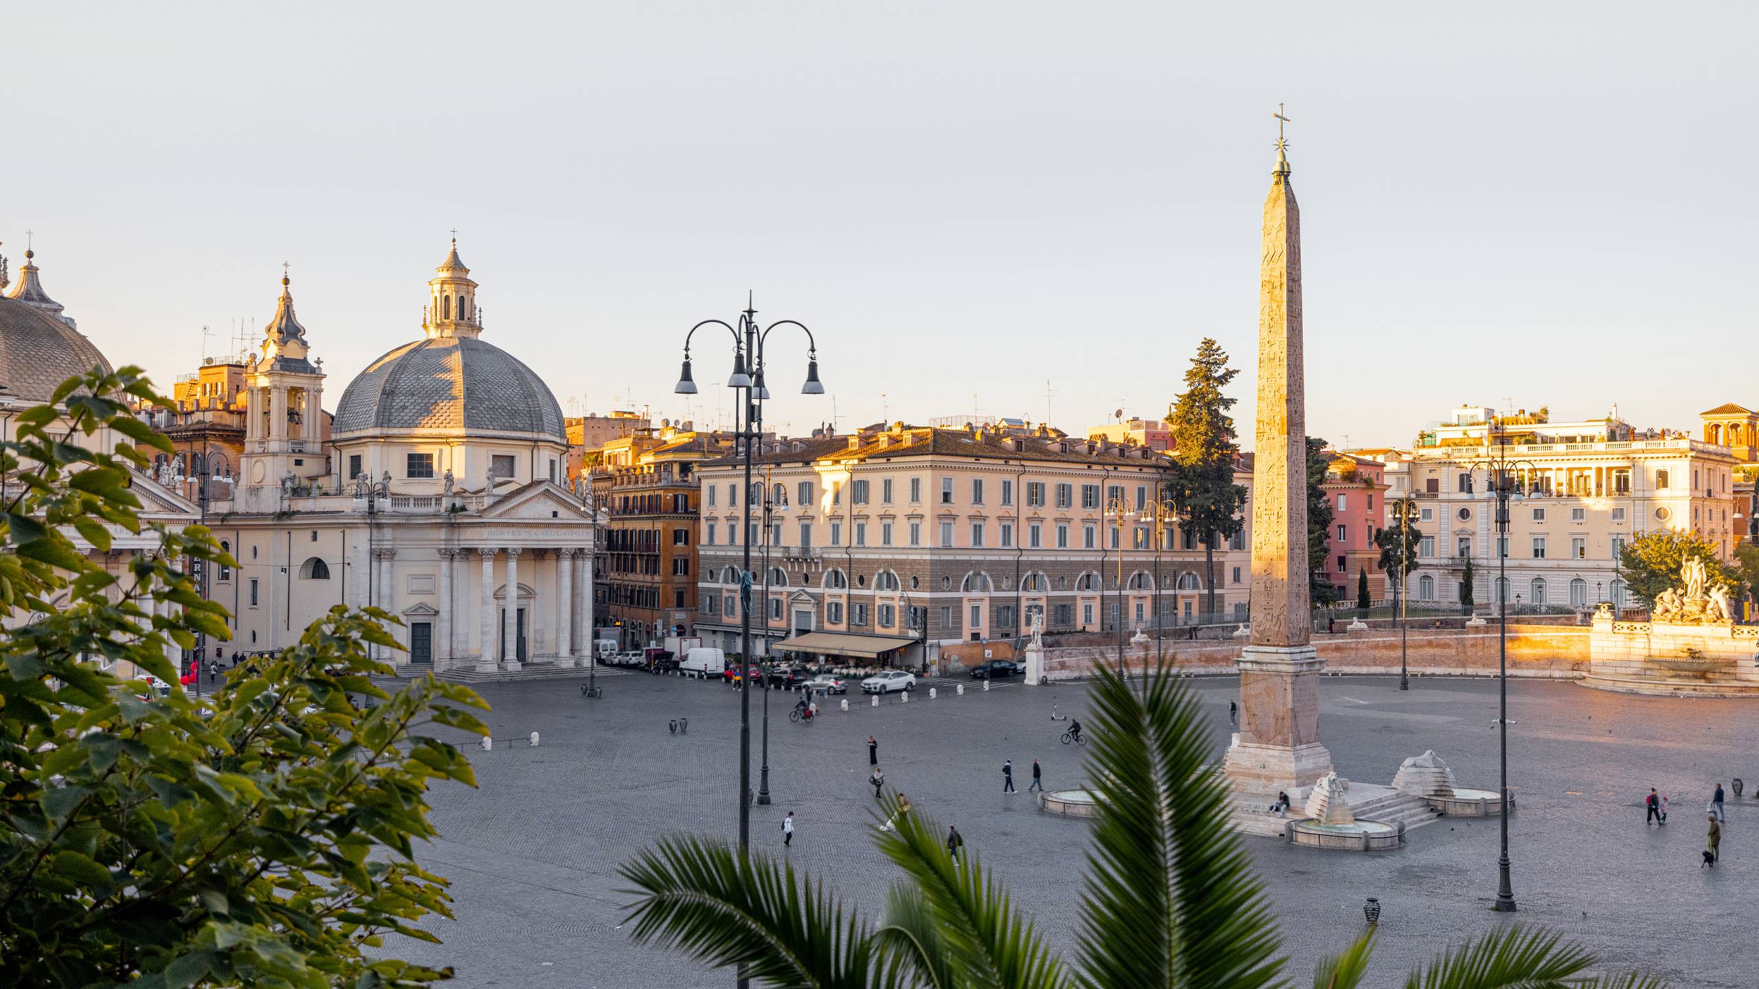
[[[1646,977],[1594,977],[1599,959],[1581,945],[1550,931],[1509,926],[1449,950],[1423,971],[1411,973],[1405,989],[1653,989]]]

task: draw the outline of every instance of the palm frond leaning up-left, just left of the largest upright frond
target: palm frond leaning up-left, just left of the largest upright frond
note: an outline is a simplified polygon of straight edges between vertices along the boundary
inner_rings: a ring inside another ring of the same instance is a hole
[[[927,913],[939,927],[939,959],[925,959],[923,977],[950,978],[948,989],[1061,989],[1069,984],[1062,963],[1045,947],[994,878],[985,878],[974,852],[953,862],[939,824],[920,811],[897,813],[895,831],[874,831],[874,843],[913,880],[894,890],[906,919]],[[895,947],[895,938],[887,940]],[[939,971],[938,971],[939,970]],[[939,984],[939,982],[936,982]]]

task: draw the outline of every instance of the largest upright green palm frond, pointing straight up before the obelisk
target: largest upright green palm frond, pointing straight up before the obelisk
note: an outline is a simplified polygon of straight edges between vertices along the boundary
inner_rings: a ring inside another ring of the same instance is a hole
[[[1161,669],[1138,695],[1098,670],[1089,776],[1098,799],[1082,905],[1094,989],[1254,989],[1277,978],[1261,883],[1228,829],[1196,699]]]

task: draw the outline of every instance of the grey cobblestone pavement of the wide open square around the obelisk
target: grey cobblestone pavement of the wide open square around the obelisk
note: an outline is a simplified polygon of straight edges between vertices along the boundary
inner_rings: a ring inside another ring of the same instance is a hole
[[[454,964],[456,985],[640,987],[730,985],[682,957],[633,947],[619,929],[626,897],[614,869],[667,831],[737,836],[739,693],[719,683],[644,674],[607,676],[586,700],[573,681],[489,685],[496,737],[522,743],[473,751],[480,788],[433,795],[443,841],[422,862],[454,882],[457,922],[433,920],[443,947],[399,941],[412,961]],[[955,683],[955,681],[948,681]],[[938,683],[938,686],[941,686]],[[1191,681],[1212,716],[1217,753],[1228,741],[1231,678]],[[850,693],[813,725],[790,723],[792,695],[770,695],[770,806],[751,810],[753,845],[786,855],[872,915],[897,875],[865,839],[872,820],[867,736],[880,739],[888,785],[922,811],[957,824],[967,850],[1013,892],[1050,943],[1073,952],[1089,824],[1043,815],[1025,787],[1033,758],[1050,788],[1082,781],[1080,751],[1057,743],[1080,716],[1087,688],[1018,681],[962,697],[941,690],[869,707]],[[1388,678],[1321,681],[1321,737],[1346,778],[1388,783],[1400,760],[1434,748],[1460,785],[1495,788],[1493,679]],[[762,693],[753,693],[753,787]],[[1752,931],[1759,875],[1752,792],[1729,792],[1722,864],[1699,868],[1704,802],[1717,780],[1759,783],[1759,707],[1741,700],[1648,699],[1573,683],[1509,688],[1509,780],[1520,799],[1511,859],[1520,913],[1585,941],[1613,966],[1648,966],[1680,987],[1755,985]],[[686,734],[668,734],[670,718]],[[1013,758],[1018,795],[1003,795]],[[1668,827],[1643,824],[1641,797],[1660,787]],[[795,811],[793,848],[781,818]],[[1275,901],[1291,975],[1305,980],[1321,952],[1361,929],[1361,905],[1384,905],[1369,985],[1400,975],[1449,943],[1509,922],[1488,910],[1497,887],[1497,822],[1442,820],[1390,853],[1319,852],[1247,839]]]

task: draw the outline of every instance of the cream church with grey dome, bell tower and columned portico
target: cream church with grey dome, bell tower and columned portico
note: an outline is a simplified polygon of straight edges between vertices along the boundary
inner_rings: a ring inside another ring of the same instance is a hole
[[[452,252],[427,283],[422,336],[343,389],[322,436],[325,377],[281,280],[246,368],[245,451],[209,524],[239,561],[209,595],[234,648],[278,649],[338,604],[405,621],[412,667],[582,665],[593,628],[593,528],[565,475],[561,407],[482,340],[470,269]]]

